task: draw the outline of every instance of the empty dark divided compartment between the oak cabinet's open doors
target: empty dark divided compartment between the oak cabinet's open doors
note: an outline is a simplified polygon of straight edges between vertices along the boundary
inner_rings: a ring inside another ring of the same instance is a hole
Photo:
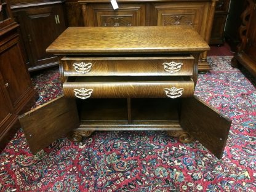
[[[93,125],[95,130],[110,124],[170,129],[180,127],[180,101],[180,98],[88,98],[77,100],[77,105],[81,124]]]

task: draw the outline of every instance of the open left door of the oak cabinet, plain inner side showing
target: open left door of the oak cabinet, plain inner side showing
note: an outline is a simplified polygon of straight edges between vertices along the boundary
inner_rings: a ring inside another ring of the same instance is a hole
[[[76,101],[58,97],[19,117],[33,154],[79,126]]]

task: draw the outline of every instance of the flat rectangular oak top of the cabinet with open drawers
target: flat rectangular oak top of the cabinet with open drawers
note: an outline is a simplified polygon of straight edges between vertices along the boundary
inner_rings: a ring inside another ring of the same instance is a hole
[[[192,26],[69,27],[46,49],[53,54],[202,52],[210,47]]]

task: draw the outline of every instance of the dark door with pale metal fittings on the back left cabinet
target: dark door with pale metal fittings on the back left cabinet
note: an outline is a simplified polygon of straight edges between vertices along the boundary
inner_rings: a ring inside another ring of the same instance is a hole
[[[23,38],[27,39],[26,49],[33,56],[33,66],[57,63],[58,59],[46,53],[46,48],[65,30],[65,20],[61,6],[38,7],[21,10]],[[33,68],[33,67],[31,67]]]

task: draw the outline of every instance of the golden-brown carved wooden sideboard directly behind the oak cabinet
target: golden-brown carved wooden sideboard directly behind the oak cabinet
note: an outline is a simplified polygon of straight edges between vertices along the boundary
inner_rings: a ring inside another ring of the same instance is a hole
[[[210,40],[217,0],[119,0],[113,10],[106,0],[67,0],[69,26],[192,25],[206,42]],[[210,70],[207,52],[199,70]]]

